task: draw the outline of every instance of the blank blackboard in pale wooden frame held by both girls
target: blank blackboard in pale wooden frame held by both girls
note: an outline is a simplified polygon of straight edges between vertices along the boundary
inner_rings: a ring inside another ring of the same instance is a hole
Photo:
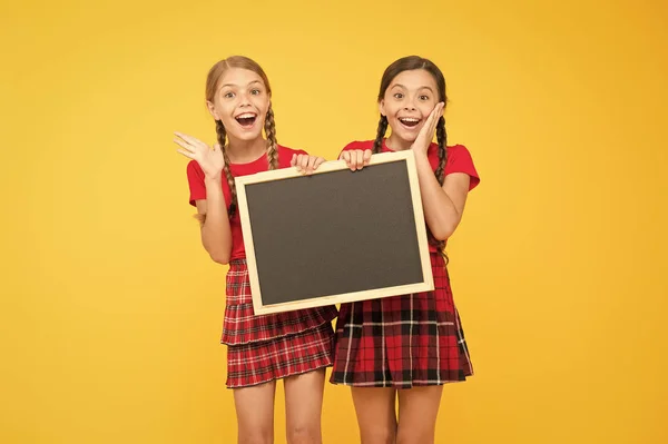
[[[433,290],[411,150],[236,178],[255,314]]]

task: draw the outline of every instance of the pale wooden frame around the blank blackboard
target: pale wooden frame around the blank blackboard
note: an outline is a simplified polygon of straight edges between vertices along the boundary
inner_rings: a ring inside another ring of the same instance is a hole
[[[253,227],[250,226],[250,216],[248,209],[248,200],[246,186],[273,180],[282,180],[288,178],[298,178],[303,175],[296,168],[282,168],[271,171],[257,172],[248,176],[239,176],[235,178],[237,189],[237,201],[239,218],[242,223],[242,233],[244,235],[244,244],[246,247],[246,263],[248,266],[248,275],[250,282],[250,293],[253,296],[253,307],[256,315],[271,313],[286,312],[292,309],[311,308],[316,306],[351,303],[365,299],[375,299],[386,296],[396,296],[411,293],[431,292],[434,289],[433,275],[431,268],[429,243],[426,237],[426,227],[424,224],[424,213],[422,207],[422,198],[420,194],[420,184],[418,181],[418,169],[415,167],[415,157],[412,150],[383,152],[373,155],[370,164],[365,168],[373,168],[374,165],[385,162],[405,162],[407,179],[410,184],[410,195],[415,219],[415,235],[418,239],[418,248],[420,251],[420,262],[422,268],[422,280],[415,284],[373,288],[358,290],[353,293],[334,294],[334,295],[317,295],[308,299],[292,300],[279,304],[264,304],[262,299],[262,287],[259,285],[257,263],[255,259],[255,241],[253,238]],[[333,160],[322,164],[314,175],[323,175],[332,171],[348,169],[343,160]],[[351,171],[351,174],[353,174]],[[307,181],[304,180],[306,186]],[[353,196],[354,198],[354,196]],[[401,203],[397,203],[401,205]],[[406,203],[407,204],[407,203]],[[295,227],[298,229],[298,227]],[[369,229],[373,229],[370,226]],[[279,235],[279,234],[277,234]],[[278,260],[278,259],[277,259]],[[296,270],[298,272],[298,270]]]

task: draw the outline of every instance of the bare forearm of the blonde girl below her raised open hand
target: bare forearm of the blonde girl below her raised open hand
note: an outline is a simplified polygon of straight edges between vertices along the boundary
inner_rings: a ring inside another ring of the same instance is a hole
[[[232,230],[220,179],[205,179],[206,218],[202,226],[202,243],[213,260],[227,264],[232,254]]]

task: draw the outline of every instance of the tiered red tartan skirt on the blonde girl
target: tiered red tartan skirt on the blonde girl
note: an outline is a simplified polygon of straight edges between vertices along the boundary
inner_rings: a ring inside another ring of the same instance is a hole
[[[247,387],[331,366],[336,307],[255,315],[245,259],[229,263],[220,343],[228,388]]]

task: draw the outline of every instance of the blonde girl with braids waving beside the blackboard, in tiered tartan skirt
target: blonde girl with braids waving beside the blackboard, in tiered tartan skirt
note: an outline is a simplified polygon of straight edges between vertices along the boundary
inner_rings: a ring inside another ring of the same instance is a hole
[[[227,387],[234,389],[238,440],[273,442],[276,381],[283,379],[288,443],[315,444],[322,442],[325,367],[333,362],[331,322],[336,308],[254,314],[236,205],[234,177],[287,167],[310,174],[324,161],[276,142],[271,98],[259,65],[240,56],[220,60],[206,80],[217,144],[208,147],[180,132],[175,142],[178,152],[191,159],[189,204],[197,207],[202,243],[213,260],[229,264],[220,342],[228,347]]]

